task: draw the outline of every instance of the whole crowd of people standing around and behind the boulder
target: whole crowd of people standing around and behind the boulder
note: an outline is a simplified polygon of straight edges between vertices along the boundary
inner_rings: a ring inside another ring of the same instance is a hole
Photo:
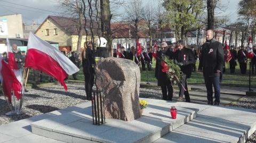
[[[109,54],[106,51],[106,39],[103,38],[100,41],[103,44],[98,44],[96,51],[93,51],[91,41],[86,41],[84,43],[84,49],[82,52],[82,68],[85,80],[86,97],[88,100],[92,99],[92,87],[95,75],[95,61],[98,61],[100,58],[109,57]],[[114,49],[113,57],[125,58],[132,61],[134,60],[136,64],[141,66],[141,71],[153,71],[151,65],[153,64],[152,51],[154,49],[152,46],[148,46],[146,52],[145,48],[141,46],[142,54],[138,55],[137,57],[134,56],[132,52],[132,49],[135,50],[134,46],[132,46],[131,48],[127,48],[127,51],[125,51],[124,47],[121,47],[120,49],[120,56],[118,56],[118,52],[116,51],[116,49]],[[174,64],[177,64],[183,73],[179,83],[179,97],[177,98],[177,101],[183,101],[183,96],[185,96],[186,102],[190,102],[187,79],[190,78],[192,72],[198,71],[203,72],[205,86],[207,89],[207,104],[219,105],[220,82],[222,81],[222,73],[226,71],[223,45],[219,41],[214,40],[212,30],[207,30],[206,41],[203,45],[201,45],[200,49],[200,54],[198,54],[197,51],[194,49],[194,46],[186,48],[185,41],[183,41],[182,39],[177,41],[175,48],[173,45],[167,45],[167,43],[165,42],[161,43],[161,45],[157,47],[155,78],[157,79],[157,86],[160,86],[162,89],[163,100],[172,100],[173,98],[173,82],[167,77],[167,74],[165,72],[162,72],[163,65],[161,59],[167,58],[169,60],[173,60]],[[18,65],[18,69],[22,76],[26,52],[19,51],[16,44],[12,45],[12,51],[15,57],[15,61]],[[230,73],[235,73],[235,68],[238,62],[241,74],[246,74],[248,62],[246,56],[246,47],[241,46],[239,51],[237,52],[234,46],[230,46],[229,51],[231,54],[231,59],[229,60]],[[79,58],[76,55],[76,52],[71,52],[70,54],[68,54],[64,51],[62,53],[65,54],[77,67],[79,66]],[[253,53],[254,55],[256,54],[256,46],[253,46]],[[4,52],[2,53],[2,55],[3,59],[7,62],[7,53]],[[195,64],[197,60],[199,60],[198,69],[196,69]],[[251,59],[251,66],[252,74],[256,74],[256,56],[253,56],[253,58]],[[37,70],[33,70],[33,72],[35,84],[40,84],[40,82],[42,82],[42,72]],[[54,78],[51,76],[49,76],[48,79],[50,82],[54,81]],[[68,77],[66,79],[68,79]],[[78,79],[77,73],[73,74],[73,79]],[[215,98],[214,102],[213,89]]]

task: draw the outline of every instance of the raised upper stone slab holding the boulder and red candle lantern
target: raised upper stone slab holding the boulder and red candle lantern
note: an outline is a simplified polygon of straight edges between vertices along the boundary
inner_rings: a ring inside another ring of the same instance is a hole
[[[142,117],[130,122],[106,119],[103,125],[93,125],[92,108],[88,106],[30,125],[34,134],[64,142],[153,142],[193,120],[197,112],[211,107],[148,98],[145,100],[149,106]],[[178,109],[177,119],[171,119],[171,106]]]

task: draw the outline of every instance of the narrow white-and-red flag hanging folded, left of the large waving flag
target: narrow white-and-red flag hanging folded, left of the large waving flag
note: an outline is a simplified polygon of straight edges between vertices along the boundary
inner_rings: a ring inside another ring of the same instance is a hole
[[[22,95],[22,92],[21,92],[21,89],[22,89],[22,79],[21,79],[20,72],[18,70],[17,63],[15,62],[15,57],[13,55],[12,48],[11,48],[11,45],[10,45],[10,42],[9,42],[8,38],[6,38],[6,45],[7,45],[7,52],[8,52],[8,57],[7,57],[8,66],[12,70],[11,74],[14,74],[15,78],[16,78],[13,81],[13,88],[12,88],[12,90],[13,90],[14,95],[16,96],[16,98],[19,100],[21,98],[21,95]]]

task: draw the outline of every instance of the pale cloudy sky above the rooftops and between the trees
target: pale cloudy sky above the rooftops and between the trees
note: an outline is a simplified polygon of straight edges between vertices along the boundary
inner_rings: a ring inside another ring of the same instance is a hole
[[[149,0],[142,0],[143,3]],[[237,3],[240,0],[220,0],[223,5],[227,5],[223,15],[229,15],[229,19],[234,22],[237,19]],[[231,2],[229,2],[231,1]],[[229,4],[228,4],[229,2]],[[31,24],[35,21],[41,24],[48,15],[58,15],[57,3],[55,0],[0,0],[0,15],[22,14],[22,22]],[[219,14],[219,15],[222,15]]]

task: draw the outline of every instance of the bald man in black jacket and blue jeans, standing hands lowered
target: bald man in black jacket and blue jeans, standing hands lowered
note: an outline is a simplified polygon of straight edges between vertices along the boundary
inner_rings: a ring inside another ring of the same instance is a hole
[[[224,52],[222,44],[213,39],[213,31],[207,30],[206,42],[202,46],[201,58],[199,60],[198,71],[204,75],[205,86],[207,89],[208,103],[213,104],[213,90],[214,86],[214,105],[220,104],[220,72],[223,68]]]

